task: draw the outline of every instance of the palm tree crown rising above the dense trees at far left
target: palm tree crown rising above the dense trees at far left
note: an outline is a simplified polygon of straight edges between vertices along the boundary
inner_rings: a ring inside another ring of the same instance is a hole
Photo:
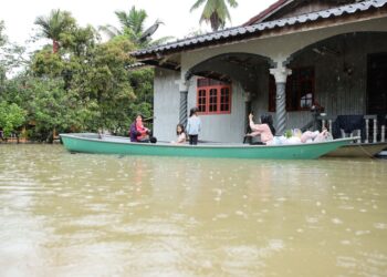
[[[52,52],[60,48],[61,34],[75,24],[75,19],[67,11],[52,10],[48,17],[38,17],[34,22],[41,28],[40,35],[52,40]]]

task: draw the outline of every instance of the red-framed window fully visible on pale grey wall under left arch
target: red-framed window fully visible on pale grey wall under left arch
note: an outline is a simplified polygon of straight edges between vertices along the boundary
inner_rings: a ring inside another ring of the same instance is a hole
[[[198,79],[197,106],[201,114],[231,112],[231,84],[212,79]]]

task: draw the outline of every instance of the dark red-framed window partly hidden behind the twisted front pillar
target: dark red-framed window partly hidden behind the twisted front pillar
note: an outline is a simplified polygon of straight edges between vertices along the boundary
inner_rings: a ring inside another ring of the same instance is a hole
[[[269,80],[269,111],[275,112],[275,81]],[[286,111],[310,110],[314,100],[314,69],[292,69],[286,80]]]

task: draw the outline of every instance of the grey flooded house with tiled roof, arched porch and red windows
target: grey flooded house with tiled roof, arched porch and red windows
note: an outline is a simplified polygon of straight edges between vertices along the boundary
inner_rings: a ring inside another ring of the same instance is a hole
[[[241,142],[245,119],[276,134],[318,103],[330,116],[387,111],[387,0],[280,0],[243,25],[132,53],[156,66],[154,133],[175,136],[197,106],[201,140]]]

